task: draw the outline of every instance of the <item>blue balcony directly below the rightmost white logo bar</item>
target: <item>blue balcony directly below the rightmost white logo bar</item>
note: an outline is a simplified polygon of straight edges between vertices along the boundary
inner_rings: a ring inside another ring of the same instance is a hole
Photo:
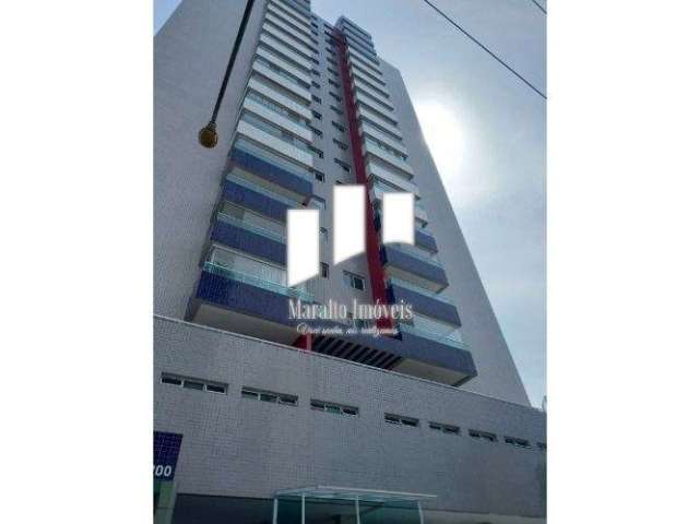
[[[449,285],[441,264],[418,257],[399,245],[381,247],[381,263],[388,277],[406,281],[433,293],[441,291]]]

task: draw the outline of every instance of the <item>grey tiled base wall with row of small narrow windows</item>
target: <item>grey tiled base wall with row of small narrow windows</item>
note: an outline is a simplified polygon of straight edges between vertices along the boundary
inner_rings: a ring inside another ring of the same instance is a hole
[[[263,513],[277,490],[318,485],[435,495],[424,502],[425,522],[525,523],[545,514],[537,446],[546,442],[545,415],[536,409],[161,317],[154,336],[154,428],[183,436],[176,523],[271,522]],[[225,385],[225,393],[163,383],[163,373]],[[244,397],[242,388],[296,402]],[[311,409],[311,400],[358,414]],[[386,414],[418,424],[388,424]],[[236,507],[261,516],[240,520]]]

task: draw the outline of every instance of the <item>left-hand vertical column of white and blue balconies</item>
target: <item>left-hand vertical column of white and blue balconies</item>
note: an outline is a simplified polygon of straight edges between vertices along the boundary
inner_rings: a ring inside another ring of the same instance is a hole
[[[286,287],[285,223],[289,207],[312,196],[322,155],[310,128],[317,52],[308,3],[268,0],[190,301],[194,320],[246,332],[240,314],[288,324],[288,298],[312,300],[305,286]]]

